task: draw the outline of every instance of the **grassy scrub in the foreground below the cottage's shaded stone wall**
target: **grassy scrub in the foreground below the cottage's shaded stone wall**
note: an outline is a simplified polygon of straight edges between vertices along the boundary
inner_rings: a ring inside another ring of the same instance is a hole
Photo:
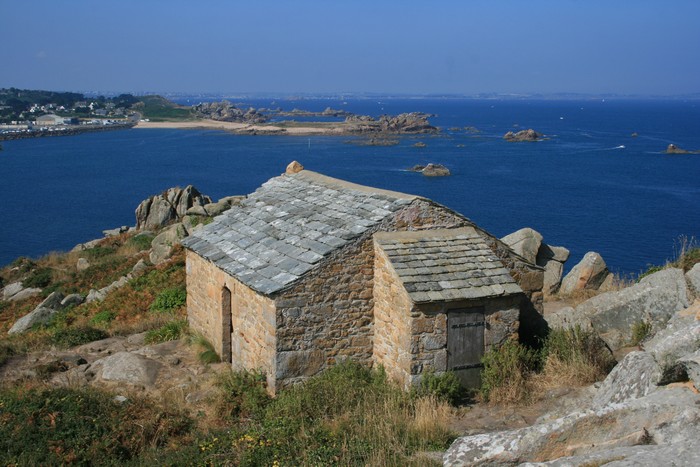
[[[353,363],[274,399],[258,373],[231,373],[220,387],[229,428],[200,442],[204,464],[429,465],[418,454],[444,450],[454,438],[446,402],[411,396],[383,371]]]

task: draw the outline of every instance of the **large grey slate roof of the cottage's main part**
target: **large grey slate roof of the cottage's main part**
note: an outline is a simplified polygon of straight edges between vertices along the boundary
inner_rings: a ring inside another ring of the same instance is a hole
[[[182,244],[269,295],[416,198],[303,170],[270,179]]]

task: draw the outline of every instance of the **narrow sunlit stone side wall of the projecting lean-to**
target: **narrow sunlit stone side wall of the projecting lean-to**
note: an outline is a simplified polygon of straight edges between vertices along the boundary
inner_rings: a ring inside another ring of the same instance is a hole
[[[374,362],[405,389],[411,383],[413,301],[382,249],[374,247]]]

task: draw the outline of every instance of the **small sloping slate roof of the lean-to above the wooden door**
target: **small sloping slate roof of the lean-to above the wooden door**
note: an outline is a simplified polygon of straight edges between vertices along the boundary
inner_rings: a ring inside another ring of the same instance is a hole
[[[380,232],[374,239],[415,303],[522,293],[473,227]]]

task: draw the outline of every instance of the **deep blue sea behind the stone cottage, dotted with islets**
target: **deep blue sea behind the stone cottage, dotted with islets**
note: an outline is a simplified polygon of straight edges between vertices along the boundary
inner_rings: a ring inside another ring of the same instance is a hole
[[[700,155],[663,152],[669,143],[700,149],[699,101],[244,104],[373,116],[421,111],[435,114],[430,121],[442,132],[401,137],[392,147],[351,144],[354,138],[346,136],[165,129],[6,141],[0,152],[0,265],[69,250],[103,229],[133,225],[138,203],[171,186],[193,184],[213,198],[250,193],[292,160],[333,177],[431,198],[499,237],[532,227],[550,245],[571,250],[569,267],[592,250],[613,271],[637,274],[672,259],[680,237],[700,237]],[[526,128],[549,139],[502,139]],[[427,147],[413,147],[418,141]],[[452,176],[405,170],[428,162],[446,165]]]

